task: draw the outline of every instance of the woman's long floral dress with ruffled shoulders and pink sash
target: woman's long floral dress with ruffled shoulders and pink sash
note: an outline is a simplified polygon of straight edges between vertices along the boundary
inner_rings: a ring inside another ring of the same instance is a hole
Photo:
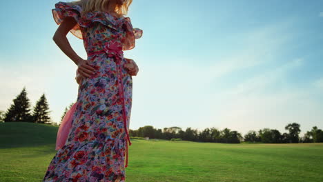
[[[81,12],[81,6],[62,1],[52,9],[58,25],[66,17],[77,21],[70,32],[83,39],[96,72],[79,84],[68,139],[52,158],[43,181],[124,182],[133,79],[123,66],[123,51],[135,48],[143,31],[133,28],[129,17]]]

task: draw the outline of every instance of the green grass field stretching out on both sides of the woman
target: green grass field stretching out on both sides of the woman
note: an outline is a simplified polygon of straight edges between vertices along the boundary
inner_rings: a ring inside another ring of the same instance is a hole
[[[0,123],[0,181],[41,181],[58,128]],[[128,182],[323,181],[323,143],[198,143],[131,139]]]

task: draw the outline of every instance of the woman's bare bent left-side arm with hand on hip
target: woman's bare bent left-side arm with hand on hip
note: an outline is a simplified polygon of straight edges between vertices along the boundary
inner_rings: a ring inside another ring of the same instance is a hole
[[[57,28],[53,41],[59,46],[61,51],[63,51],[72,61],[77,65],[79,73],[84,77],[90,77],[90,74],[95,73],[95,68],[93,68],[87,60],[82,59],[70,46],[70,43],[66,37],[68,32],[76,25],[74,17],[66,17],[59,28]]]

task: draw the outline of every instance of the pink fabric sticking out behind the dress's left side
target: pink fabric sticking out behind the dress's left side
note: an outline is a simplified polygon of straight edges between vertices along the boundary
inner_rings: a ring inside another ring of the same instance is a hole
[[[68,138],[68,133],[70,132],[70,128],[72,128],[72,119],[73,119],[73,114],[75,112],[76,103],[77,102],[75,102],[70,108],[70,110],[66,112],[65,116],[63,117],[63,120],[61,121],[61,125],[59,125],[55,150],[61,149],[63,145],[65,145],[66,143],[66,139]]]

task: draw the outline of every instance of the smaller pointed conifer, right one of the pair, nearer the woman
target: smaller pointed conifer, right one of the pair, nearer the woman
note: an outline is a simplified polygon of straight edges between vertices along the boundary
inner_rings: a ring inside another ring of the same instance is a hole
[[[49,111],[47,99],[45,97],[45,94],[42,94],[39,100],[37,101],[35,108],[32,112],[32,116],[34,117],[35,123],[44,123],[44,124],[52,123],[49,113],[50,111]]]

